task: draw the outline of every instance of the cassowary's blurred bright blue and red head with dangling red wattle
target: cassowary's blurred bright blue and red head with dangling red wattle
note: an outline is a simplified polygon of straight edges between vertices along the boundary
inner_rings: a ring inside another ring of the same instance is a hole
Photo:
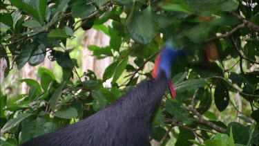
[[[184,51],[179,51],[177,46],[173,46],[172,42],[167,42],[157,58],[155,59],[155,65],[153,67],[152,77],[156,80],[164,71],[169,84],[169,90],[171,96],[175,98],[175,89],[171,82],[171,64],[178,55],[184,54]]]

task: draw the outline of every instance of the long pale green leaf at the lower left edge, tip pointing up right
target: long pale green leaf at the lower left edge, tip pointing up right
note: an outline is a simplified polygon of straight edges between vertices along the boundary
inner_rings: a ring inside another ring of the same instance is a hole
[[[10,120],[8,120],[8,122],[6,122],[6,125],[3,126],[3,128],[1,129],[1,134],[6,133],[7,131],[9,131],[10,129],[16,127],[17,125],[19,125],[23,120],[25,120],[26,118],[32,116],[32,113],[20,113],[17,118],[12,118]]]

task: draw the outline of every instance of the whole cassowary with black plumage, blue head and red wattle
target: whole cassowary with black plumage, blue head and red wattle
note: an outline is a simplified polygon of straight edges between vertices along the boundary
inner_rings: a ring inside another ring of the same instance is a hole
[[[152,79],[145,80],[93,116],[21,145],[150,145],[151,120],[167,85],[173,98],[171,64],[182,51],[165,44],[155,60]]]

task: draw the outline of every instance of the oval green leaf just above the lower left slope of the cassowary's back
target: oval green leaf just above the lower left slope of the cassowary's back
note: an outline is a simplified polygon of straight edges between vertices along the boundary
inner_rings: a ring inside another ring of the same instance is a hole
[[[54,113],[54,116],[57,116],[59,118],[77,118],[77,109],[75,109],[74,107],[68,107],[68,109],[62,109],[60,111],[57,111],[56,113]]]

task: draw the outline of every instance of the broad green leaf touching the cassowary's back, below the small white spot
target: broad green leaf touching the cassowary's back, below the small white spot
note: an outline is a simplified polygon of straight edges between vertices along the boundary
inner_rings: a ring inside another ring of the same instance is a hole
[[[99,111],[108,106],[108,100],[106,100],[100,91],[93,91],[91,95],[93,97],[93,109],[95,111]]]

